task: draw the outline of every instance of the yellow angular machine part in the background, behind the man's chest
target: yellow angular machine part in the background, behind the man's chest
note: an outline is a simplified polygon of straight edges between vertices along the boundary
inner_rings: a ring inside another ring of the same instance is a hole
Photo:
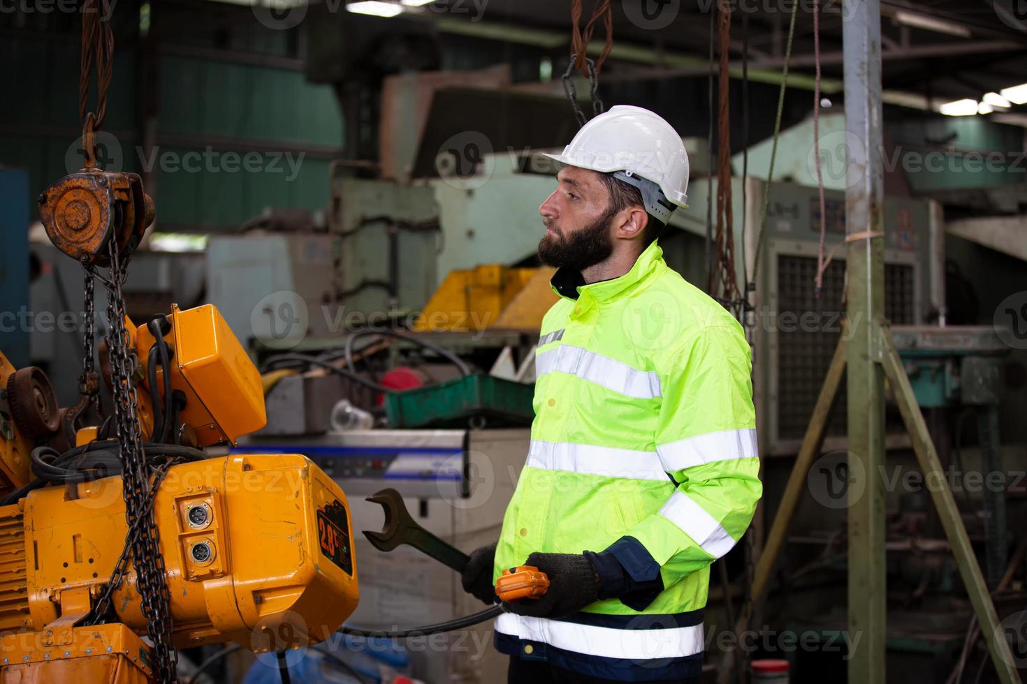
[[[424,306],[414,330],[480,332],[490,327],[537,330],[542,316],[557,300],[548,286],[551,276],[551,269],[511,269],[498,264],[451,271]],[[544,282],[544,289],[532,287],[538,297],[537,307],[523,306],[518,315],[503,316],[526,286],[540,281]]]

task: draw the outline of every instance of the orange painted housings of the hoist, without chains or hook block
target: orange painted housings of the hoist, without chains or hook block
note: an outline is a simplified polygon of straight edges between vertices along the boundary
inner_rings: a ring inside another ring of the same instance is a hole
[[[200,446],[264,426],[260,375],[213,306],[173,307],[165,334],[180,419]],[[154,338],[127,326],[144,439]],[[0,380],[13,369],[0,356]],[[160,372],[157,381],[163,384]],[[4,418],[0,482],[32,479],[33,439]],[[78,444],[94,440],[83,428]],[[99,448],[99,447],[98,447]],[[327,639],[358,600],[353,530],[339,485],[300,454],[236,454],[167,470],[154,521],[169,590],[176,647],[234,641],[256,652]],[[111,601],[117,620],[83,626],[120,557],[127,528],[121,478],[47,486],[0,507],[0,684],[152,681],[131,564]]]

